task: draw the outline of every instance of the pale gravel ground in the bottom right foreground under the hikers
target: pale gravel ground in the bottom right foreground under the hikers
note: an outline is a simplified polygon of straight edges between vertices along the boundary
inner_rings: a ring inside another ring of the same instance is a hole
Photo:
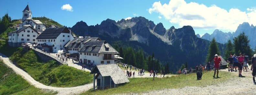
[[[251,67],[249,67],[251,68]],[[228,69],[223,69],[221,71],[228,71]],[[232,94],[246,94],[255,95],[256,94],[256,84],[252,81],[251,70],[248,72],[243,72],[244,78],[234,77],[229,81],[218,83],[216,85],[209,85],[207,87],[184,87],[179,89],[163,89],[149,91],[145,93],[129,93],[129,94],[142,94],[142,95],[232,95]],[[238,72],[231,72],[238,75]]]

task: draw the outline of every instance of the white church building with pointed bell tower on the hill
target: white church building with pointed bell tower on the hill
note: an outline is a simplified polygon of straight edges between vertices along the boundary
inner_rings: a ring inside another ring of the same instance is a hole
[[[41,21],[31,18],[32,12],[28,5],[22,12],[22,23],[19,24],[19,28],[7,33],[9,46],[19,47],[24,42],[37,43],[36,38],[46,29],[46,25]]]

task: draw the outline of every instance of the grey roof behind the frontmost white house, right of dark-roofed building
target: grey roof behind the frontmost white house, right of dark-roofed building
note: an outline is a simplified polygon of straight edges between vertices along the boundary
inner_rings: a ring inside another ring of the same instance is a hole
[[[90,37],[90,38],[74,38],[73,40],[69,41],[64,47],[68,48],[81,48],[81,42],[85,43],[86,41],[97,41],[101,40],[99,37]],[[77,43],[76,43],[77,41]]]

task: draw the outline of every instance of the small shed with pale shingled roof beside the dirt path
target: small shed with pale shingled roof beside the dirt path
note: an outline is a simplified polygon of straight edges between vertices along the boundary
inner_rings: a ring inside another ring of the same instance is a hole
[[[97,89],[113,88],[119,84],[130,82],[123,70],[116,64],[96,65],[92,70],[93,90],[95,90],[95,80],[97,79]],[[95,76],[95,74],[97,74]]]

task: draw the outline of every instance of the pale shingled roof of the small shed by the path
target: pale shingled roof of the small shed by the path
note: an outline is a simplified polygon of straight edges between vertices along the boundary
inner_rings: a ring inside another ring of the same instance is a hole
[[[93,73],[100,73],[102,77],[110,76],[115,84],[130,82],[123,69],[116,64],[96,65],[91,70],[91,74]]]

